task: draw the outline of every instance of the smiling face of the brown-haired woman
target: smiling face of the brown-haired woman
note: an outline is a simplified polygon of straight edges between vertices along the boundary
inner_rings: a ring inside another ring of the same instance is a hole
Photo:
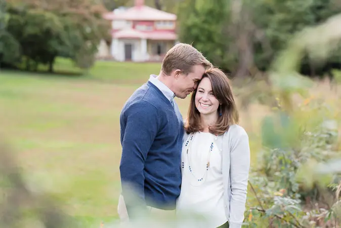
[[[211,82],[208,78],[203,78],[198,85],[195,106],[201,115],[212,115],[218,111],[219,101],[213,95]]]

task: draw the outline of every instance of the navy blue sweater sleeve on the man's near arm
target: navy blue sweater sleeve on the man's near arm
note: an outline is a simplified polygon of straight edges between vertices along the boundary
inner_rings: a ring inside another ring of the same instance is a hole
[[[157,109],[139,102],[125,111],[120,177],[129,216],[145,209],[144,163],[158,131]],[[136,211],[138,210],[138,211]]]

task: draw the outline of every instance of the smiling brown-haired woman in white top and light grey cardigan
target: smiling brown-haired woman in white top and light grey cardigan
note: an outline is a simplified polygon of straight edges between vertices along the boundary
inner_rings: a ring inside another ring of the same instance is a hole
[[[218,68],[207,71],[190,101],[177,215],[200,214],[204,227],[241,227],[250,149],[238,119],[228,78]]]

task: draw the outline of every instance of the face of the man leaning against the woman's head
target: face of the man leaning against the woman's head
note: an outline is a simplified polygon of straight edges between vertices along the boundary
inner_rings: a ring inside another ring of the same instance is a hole
[[[198,82],[202,79],[202,75],[205,73],[205,67],[202,65],[195,65],[192,67],[192,72],[189,74],[184,74],[178,72],[176,75],[176,82],[174,85],[174,93],[179,98],[186,98],[191,92],[193,92],[197,86]]]

